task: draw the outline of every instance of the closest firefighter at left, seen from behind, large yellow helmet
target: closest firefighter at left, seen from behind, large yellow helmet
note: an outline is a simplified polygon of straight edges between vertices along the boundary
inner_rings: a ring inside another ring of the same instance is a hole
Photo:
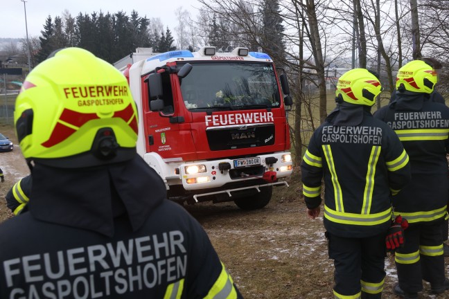
[[[200,224],[137,155],[125,77],[64,48],[26,78],[28,211],[0,224],[0,298],[241,298]]]

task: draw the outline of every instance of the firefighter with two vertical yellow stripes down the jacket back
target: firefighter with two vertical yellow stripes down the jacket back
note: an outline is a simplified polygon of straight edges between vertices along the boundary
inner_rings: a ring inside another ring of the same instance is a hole
[[[335,264],[335,298],[381,298],[390,193],[410,180],[398,136],[371,115],[381,90],[375,75],[353,69],[337,84],[337,108],[314,132],[301,164],[308,216],[319,215],[324,177],[324,227]]]

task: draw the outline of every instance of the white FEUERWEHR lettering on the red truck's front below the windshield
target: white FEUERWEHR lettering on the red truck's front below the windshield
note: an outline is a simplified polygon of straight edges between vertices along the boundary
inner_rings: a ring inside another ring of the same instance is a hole
[[[205,116],[206,127],[218,125],[243,125],[247,123],[268,123],[274,122],[272,112],[250,112],[242,114],[215,114]]]

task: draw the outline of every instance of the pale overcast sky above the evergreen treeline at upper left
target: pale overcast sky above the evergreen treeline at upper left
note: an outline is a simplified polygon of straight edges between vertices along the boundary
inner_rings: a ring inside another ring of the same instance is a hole
[[[51,15],[62,17],[64,10],[69,10],[72,17],[79,12],[118,12],[123,10],[130,16],[132,10],[139,12],[139,17],[160,17],[164,27],[168,26],[175,35],[177,19],[175,10],[182,6],[197,15],[196,8],[200,7],[197,0],[27,0],[26,21],[28,23],[28,37],[38,37],[44,28],[46,18]],[[0,37],[26,37],[24,2],[21,0],[1,0]]]

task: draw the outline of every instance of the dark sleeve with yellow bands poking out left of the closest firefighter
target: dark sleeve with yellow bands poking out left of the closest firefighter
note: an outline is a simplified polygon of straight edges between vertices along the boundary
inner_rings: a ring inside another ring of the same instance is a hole
[[[30,201],[32,182],[31,175],[25,176],[15,183],[6,194],[6,206],[10,208],[14,215],[18,215],[24,209],[26,203]]]

